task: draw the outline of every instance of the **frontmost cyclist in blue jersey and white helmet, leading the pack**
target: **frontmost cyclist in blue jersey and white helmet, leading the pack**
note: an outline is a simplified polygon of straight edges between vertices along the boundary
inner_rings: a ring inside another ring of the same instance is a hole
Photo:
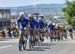
[[[25,50],[22,33],[24,31],[24,27],[26,27],[26,25],[28,24],[28,19],[25,18],[24,13],[20,15],[20,17],[17,19],[16,23],[17,23],[16,25],[19,29],[19,50],[21,51],[22,46],[23,46],[23,49]]]

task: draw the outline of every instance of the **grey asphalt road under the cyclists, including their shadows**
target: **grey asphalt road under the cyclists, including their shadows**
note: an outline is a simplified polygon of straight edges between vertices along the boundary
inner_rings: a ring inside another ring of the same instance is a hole
[[[33,49],[19,51],[18,42],[1,42],[0,54],[75,54],[75,40],[69,43],[43,43],[42,46],[35,46]]]

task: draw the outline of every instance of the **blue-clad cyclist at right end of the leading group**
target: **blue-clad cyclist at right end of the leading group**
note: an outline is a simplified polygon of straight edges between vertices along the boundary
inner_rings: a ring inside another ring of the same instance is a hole
[[[42,41],[44,41],[44,38],[43,38],[44,27],[45,27],[44,16],[40,16],[40,20],[39,20],[40,44],[42,44]]]

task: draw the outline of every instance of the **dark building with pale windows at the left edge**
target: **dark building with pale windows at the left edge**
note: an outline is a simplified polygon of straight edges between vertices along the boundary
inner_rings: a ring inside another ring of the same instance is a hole
[[[10,26],[10,9],[0,9],[0,29]]]

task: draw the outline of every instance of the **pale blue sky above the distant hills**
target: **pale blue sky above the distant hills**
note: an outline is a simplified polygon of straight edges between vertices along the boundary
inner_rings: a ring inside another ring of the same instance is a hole
[[[65,0],[0,0],[0,7],[18,7],[36,4],[62,4]]]

